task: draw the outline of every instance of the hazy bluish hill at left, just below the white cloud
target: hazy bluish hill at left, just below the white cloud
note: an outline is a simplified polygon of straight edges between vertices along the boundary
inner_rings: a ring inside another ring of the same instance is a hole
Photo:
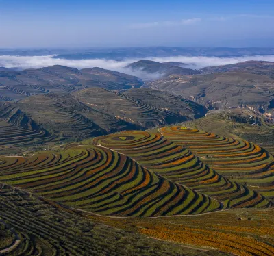
[[[35,94],[69,94],[86,87],[99,86],[122,90],[142,86],[138,77],[103,68],[78,70],[66,66],[0,71],[0,100],[20,101]]]

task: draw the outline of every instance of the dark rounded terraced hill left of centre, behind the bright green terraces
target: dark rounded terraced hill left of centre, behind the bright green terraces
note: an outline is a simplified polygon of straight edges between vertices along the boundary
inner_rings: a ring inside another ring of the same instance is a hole
[[[101,127],[77,111],[68,97],[36,95],[17,105],[36,123],[58,136],[87,138],[105,133]]]

